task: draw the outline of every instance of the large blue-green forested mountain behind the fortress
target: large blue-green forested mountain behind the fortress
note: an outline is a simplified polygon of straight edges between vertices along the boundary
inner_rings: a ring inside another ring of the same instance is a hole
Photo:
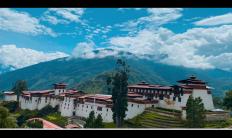
[[[0,90],[9,90],[16,80],[27,80],[30,89],[50,89],[53,83],[65,82],[69,87],[106,93],[105,78],[115,68],[114,57],[95,59],[57,59],[0,75]],[[214,95],[232,89],[232,73],[218,69],[200,70],[154,63],[145,59],[127,58],[130,65],[129,83],[147,81],[164,85],[175,84],[189,75],[197,75],[214,87]]]

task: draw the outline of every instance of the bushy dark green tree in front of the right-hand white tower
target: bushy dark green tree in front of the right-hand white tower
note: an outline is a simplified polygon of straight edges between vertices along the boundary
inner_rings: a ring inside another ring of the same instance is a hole
[[[202,99],[200,97],[194,99],[192,95],[189,96],[186,104],[186,115],[188,127],[204,127],[205,109],[204,104],[202,103]]]

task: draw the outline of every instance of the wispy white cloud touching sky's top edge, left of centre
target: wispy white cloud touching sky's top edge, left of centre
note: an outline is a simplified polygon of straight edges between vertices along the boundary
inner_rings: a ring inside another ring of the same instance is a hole
[[[83,8],[50,8],[45,12],[42,20],[52,24],[83,23],[81,20],[83,14]]]

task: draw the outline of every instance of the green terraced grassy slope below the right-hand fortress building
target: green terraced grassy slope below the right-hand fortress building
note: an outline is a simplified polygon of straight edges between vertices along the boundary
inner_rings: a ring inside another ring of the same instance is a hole
[[[139,128],[184,128],[181,113],[157,108],[148,108],[143,114],[128,122],[136,123]]]

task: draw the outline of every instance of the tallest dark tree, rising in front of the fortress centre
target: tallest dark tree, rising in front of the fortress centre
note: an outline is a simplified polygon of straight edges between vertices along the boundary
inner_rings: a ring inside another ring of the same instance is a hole
[[[108,91],[112,91],[113,120],[117,127],[122,127],[127,111],[128,68],[125,61],[118,59],[115,73],[107,79]]]

